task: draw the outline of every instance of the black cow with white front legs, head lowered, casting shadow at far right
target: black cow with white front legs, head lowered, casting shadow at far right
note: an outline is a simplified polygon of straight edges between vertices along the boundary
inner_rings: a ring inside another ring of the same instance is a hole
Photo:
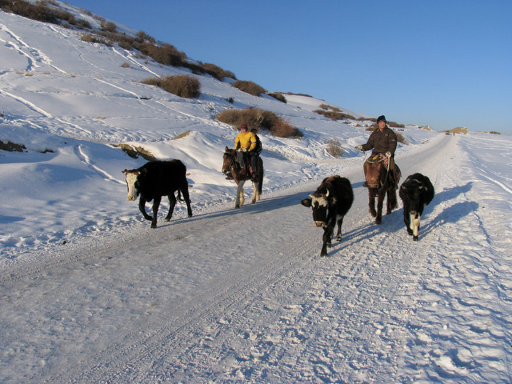
[[[434,198],[434,186],[427,176],[413,174],[405,179],[398,194],[404,206],[407,233],[412,235],[412,240],[417,241],[423,208]]]

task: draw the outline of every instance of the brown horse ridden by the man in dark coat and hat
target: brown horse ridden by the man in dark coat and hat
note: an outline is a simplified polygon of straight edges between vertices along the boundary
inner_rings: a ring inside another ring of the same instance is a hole
[[[393,183],[391,175],[388,171],[388,161],[390,159],[385,156],[378,155],[370,157],[365,161],[366,167],[366,182],[368,183],[368,211],[370,215],[375,218],[375,224],[382,223],[382,208],[384,197],[388,193],[386,201],[386,215],[390,215],[393,209],[398,208],[398,201],[396,197],[395,184],[398,185],[398,180]],[[395,164],[395,174],[400,175],[400,169]],[[400,178],[398,178],[400,179]],[[377,197],[377,210],[375,211],[375,197]]]

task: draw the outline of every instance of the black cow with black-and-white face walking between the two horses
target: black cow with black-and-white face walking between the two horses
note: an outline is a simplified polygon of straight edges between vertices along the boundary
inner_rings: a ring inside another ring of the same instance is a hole
[[[324,178],[311,198],[304,198],[301,204],[313,208],[313,223],[315,227],[324,228],[324,244],[320,256],[327,256],[327,247],[331,247],[334,225],[338,223],[336,240],[341,241],[341,224],[343,217],[353,203],[353,191],[348,178],[338,175]]]

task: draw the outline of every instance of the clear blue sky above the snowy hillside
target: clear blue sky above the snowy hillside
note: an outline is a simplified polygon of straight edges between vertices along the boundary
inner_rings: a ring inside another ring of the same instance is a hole
[[[269,91],[512,134],[512,1],[68,0]]]

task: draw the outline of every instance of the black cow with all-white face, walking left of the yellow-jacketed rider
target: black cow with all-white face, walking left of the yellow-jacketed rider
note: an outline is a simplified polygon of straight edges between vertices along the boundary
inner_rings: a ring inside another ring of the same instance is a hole
[[[186,181],[186,166],[179,160],[171,161],[149,161],[139,169],[125,169],[128,186],[129,201],[134,201],[137,196],[139,199],[139,210],[144,218],[151,220],[151,228],[156,228],[156,213],[160,206],[162,196],[169,198],[171,204],[169,213],[165,220],[171,220],[176,197],[174,192],[178,191],[178,199],[186,202],[187,213],[190,218],[192,215],[190,196],[188,195],[188,182]],[[181,198],[183,194],[183,199]],[[146,213],[146,201],[153,201],[153,216]]]

